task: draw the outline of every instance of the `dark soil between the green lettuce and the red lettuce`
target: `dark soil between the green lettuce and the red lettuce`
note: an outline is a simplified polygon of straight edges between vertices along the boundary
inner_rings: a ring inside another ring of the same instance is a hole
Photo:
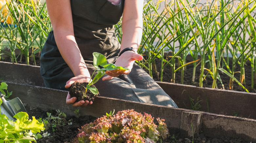
[[[33,108],[28,106],[25,106],[25,108],[30,118],[34,116],[35,119],[46,119],[48,117],[47,112],[51,113],[54,117],[59,117],[59,113],[54,110],[45,112],[42,111],[40,108]],[[75,114],[74,116],[67,116],[66,118],[62,116],[60,118],[61,122],[59,124],[55,124],[56,127],[52,127],[55,123],[53,120],[49,122],[50,124],[43,132],[47,132],[50,135],[45,137],[43,136],[42,138],[37,139],[37,143],[70,142],[78,134],[78,129],[80,129],[84,124],[90,123],[96,119],[96,117],[93,116],[79,116],[77,118]],[[42,135],[43,132],[41,132],[40,134]]]

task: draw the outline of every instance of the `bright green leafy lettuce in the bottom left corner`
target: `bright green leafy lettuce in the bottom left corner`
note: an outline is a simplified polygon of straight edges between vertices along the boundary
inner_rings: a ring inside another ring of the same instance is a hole
[[[37,133],[44,130],[44,124],[38,122],[35,117],[31,120],[26,112],[19,112],[14,115],[14,118],[17,120],[13,122],[6,115],[0,114],[0,143],[31,143],[42,137]]]

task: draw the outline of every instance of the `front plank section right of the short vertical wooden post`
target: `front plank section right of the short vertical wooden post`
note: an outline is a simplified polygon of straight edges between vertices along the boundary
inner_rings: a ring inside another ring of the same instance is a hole
[[[240,138],[256,142],[256,120],[203,113],[202,131],[205,136]]]

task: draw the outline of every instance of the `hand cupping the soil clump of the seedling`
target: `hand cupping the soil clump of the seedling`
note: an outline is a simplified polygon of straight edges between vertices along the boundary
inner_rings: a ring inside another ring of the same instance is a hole
[[[71,78],[69,81],[67,81],[65,88],[69,88],[75,82],[80,82],[80,83],[89,82],[90,79],[91,79],[90,74],[88,76],[83,76],[83,75],[75,76],[75,77]],[[91,105],[93,103],[92,101],[89,102],[88,100],[86,100],[86,101],[81,100],[78,102],[75,102],[75,101],[76,101],[76,97],[71,98],[70,94],[68,93],[67,98],[66,98],[66,103],[72,104],[73,107],[79,107],[79,106],[85,107],[88,104]]]

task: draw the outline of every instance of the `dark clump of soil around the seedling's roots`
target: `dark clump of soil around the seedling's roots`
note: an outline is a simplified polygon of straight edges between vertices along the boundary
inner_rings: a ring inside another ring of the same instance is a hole
[[[84,83],[73,83],[69,88],[69,94],[71,97],[76,97],[76,102],[81,100],[94,101],[94,98],[98,96],[98,94],[93,94],[90,90],[86,90],[87,82]],[[95,87],[91,85],[90,87]]]

